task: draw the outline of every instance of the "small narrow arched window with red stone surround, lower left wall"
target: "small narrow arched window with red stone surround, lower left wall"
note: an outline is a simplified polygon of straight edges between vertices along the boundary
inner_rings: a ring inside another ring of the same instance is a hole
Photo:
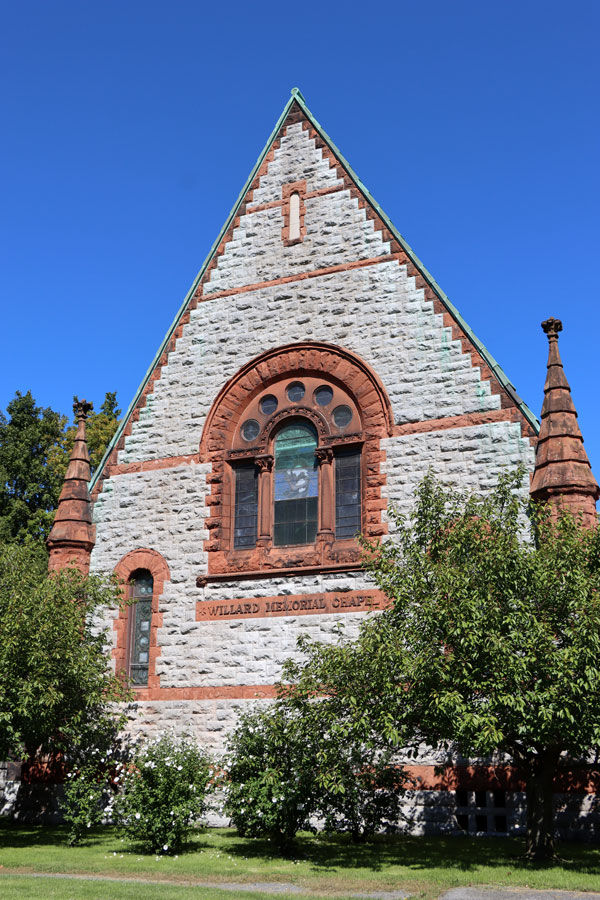
[[[150,697],[160,686],[155,671],[160,656],[158,629],[162,626],[159,600],[171,577],[169,567],[156,550],[140,548],[117,563],[115,574],[125,583],[127,599],[132,601],[119,610],[114,622],[115,668],[131,679],[137,696]]]

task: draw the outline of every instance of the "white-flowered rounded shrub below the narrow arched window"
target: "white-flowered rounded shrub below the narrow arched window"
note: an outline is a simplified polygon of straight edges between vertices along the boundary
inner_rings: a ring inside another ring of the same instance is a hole
[[[190,738],[148,741],[123,771],[117,821],[144,849],[174,853],[205,811],[212,774],[207,754]]]

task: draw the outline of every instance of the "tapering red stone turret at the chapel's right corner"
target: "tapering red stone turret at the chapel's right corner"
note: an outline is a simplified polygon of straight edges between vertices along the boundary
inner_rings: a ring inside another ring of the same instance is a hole
[[[571,388],[564,373],[558,335],[560,319],[547,319],[548,374],[544,385],[542,426],[530,493],[534,500],[550,501],[558,513],[569,509],[581,514],[586,525],[597,525],[596,501],[600,488],[583,446]]]

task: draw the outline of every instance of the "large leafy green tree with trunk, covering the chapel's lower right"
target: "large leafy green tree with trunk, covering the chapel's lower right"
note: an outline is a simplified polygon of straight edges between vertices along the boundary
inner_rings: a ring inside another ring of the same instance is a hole
[[[296,674],[390,746],[505,754],[525,778],[527,854],[544,859],[561,759],[600,745],[600,532],[527,509],[521,480],[478,497],[427,477],[371,548],[390,609],[357,641],[308,645]]]

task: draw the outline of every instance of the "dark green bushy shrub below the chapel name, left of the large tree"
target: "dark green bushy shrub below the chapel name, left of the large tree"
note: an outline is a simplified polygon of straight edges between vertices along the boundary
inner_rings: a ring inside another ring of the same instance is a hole
[[[225,762],[225,812],[238,832],[267,836],[285,849],[314,831],[316,742],[293,711],[275,704],[242,716]]]

